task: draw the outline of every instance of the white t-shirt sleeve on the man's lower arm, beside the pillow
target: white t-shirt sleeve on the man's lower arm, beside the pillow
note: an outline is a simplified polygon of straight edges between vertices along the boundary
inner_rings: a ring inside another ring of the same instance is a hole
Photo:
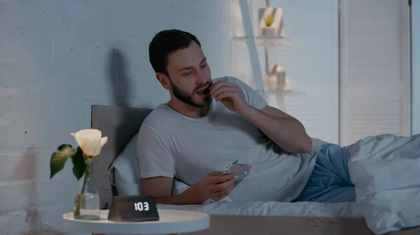
[[[175,160],[168,145],[152,128],[141,126],[137,137],[137,158],[139,158],[141,178],[157,176],[174,178]]]

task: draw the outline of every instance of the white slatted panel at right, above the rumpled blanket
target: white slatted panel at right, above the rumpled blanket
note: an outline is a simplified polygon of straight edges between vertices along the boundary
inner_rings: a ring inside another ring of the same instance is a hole
[[[410,135],[407,0],[342,0],[340,144]]]

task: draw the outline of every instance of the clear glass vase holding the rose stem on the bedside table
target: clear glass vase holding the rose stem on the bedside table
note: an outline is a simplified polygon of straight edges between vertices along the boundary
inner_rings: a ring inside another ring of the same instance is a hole
[[[73,217],[78,220],[99,220],[101,218],[99,193],[90,178],[91,169],[92,162],[87,160],[85,174],[78,181],[74,198]]]

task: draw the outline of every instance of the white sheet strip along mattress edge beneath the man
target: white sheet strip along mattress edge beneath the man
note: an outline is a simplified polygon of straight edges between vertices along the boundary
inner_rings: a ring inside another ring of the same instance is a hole
[[[262,215],[362,218],[354,202],[212,202],[201,205],[158,205],[158,209],[198,211],[210,215]]]

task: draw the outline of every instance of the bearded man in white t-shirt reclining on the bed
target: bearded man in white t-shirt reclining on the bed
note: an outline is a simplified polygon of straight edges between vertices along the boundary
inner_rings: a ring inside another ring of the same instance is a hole
[[[313,146],[300,121],[239,79],[211,79],[191,33],[160,31],[149,57],[171,95],[146,118],[138,138],[143,190],[158,204],[202,204],[228,195],[235,202],[354,201],[348,151]],[[236,160],[252,168],[234,188],[235,175],[221,172]],[[173,179],[190,188],[172,195]]]

